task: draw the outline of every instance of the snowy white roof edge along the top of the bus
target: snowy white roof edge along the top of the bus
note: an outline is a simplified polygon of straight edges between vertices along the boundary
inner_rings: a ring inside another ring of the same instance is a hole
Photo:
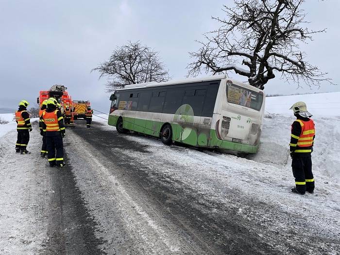
[[[220,74],[220,75],[211,75],[211,76],[205,76],[205,77],[199,77],[199,78],[188,78],[188,79],[182,79],[182,80],[172,80],[168,82],[149,82],[149,83],[139,83],[139,84],[130,84],[125,85],[125,88],[116,89],[116,91],[119,90],[126,90],[126,89],[134,89],[134,88],[145,88],[145,87],[154,87],[154,86],[165,86],[165,85],[176,85],[176,84],[182,84],[182,83],[195,83],[195,82],[205,82],[205,81],[216,81],[216,80],[222,80],[222,79],[228,79],[231,80],[236,85],[242,85],[249,89],[252,89],[256,92],[261,91],[258,88],[255,88],[249,84],[239,82],[237,80],[234,80],[232,78],[229,78],[226,74]]]

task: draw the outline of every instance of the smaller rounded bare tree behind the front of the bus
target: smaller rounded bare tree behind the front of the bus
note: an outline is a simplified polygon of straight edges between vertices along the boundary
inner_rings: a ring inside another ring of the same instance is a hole
[[[107,61],[91,72],[94,70],[100,73],[99,79],[108,77],[108,92],[128,84],[165,82],[170,79],[169,71],[160,61],[158,52],[142,46],[139,41],[129,41],[118,47]]]

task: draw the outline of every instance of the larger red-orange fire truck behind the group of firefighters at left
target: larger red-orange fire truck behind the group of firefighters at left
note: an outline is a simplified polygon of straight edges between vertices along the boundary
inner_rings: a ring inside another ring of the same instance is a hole
[[[61,113],[64,114],[66,107],[72,109],[72,98],[68,95],[66,91],[68,88],[64,85],[53,85],[49,90],[41,90],[39,92],[39,97],[36,99],[36,102],[42,105],[42,102],[49,98],[55,98],[60,103]],[[66,126],[74,126],[73,124],[73,112],[71,112],[71,121],[69,125]]]

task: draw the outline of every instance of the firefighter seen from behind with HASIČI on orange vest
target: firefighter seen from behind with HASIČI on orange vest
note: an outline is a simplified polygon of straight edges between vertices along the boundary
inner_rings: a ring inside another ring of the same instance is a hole
[[[42,128],[46,136],[46,146],[50,167],[63,167],[64,148],[63,137],[65,136],[64,119],[61,112],[57,109],[57,103],[48,100],[47,109],[43,113]]]

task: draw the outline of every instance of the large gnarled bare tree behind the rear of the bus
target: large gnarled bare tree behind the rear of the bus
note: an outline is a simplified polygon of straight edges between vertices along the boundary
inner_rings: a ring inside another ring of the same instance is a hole
[[[312,40],[313,31],[306,23],[301,5],[305,0],[234,0],[234,7],[224,5],[226,18],[213,17],[221,27],[205,34],[206,42],[188,65],[188,76],[202,69],[213,74],[234,71],[247,77],[250,85],[263,89],[280,73],[281,78],[297,85],[319,85],[327,73],[306,61],[299,43]],[[241,68],[241,65],[244,68]]]

